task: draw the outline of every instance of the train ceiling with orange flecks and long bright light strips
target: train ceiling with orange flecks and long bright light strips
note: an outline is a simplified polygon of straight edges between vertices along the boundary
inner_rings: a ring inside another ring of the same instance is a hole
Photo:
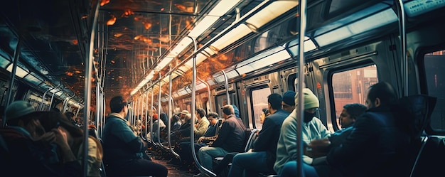
[[[318,50],[320,55],[323,45],[348,38],[333,41],[332,36],[336,38],[338,34],[327,34],[354,21],[365,22],[368,16],[390,9],[392,3],[308,1],[309,50]],[[14,53],[18,52],[16,75],[43,90],[63,85],[62,99],[75,94],[75,100],[83,102],[95,4],[97,1],[18,0],[1,6],[0,67],[11,68]],[[107,98],[139,95],[160,77],[161,89],[167,91],[168,74],[175,77],[173,90],[186,90],[191,84],[191,54],[195,49],[199,50],[198,77],[213,85],[221,81],[221,70],[234,74],[232,78],[245,77],[252,72],[247,69],[253,68],[256,60],[270,62],[260,67],[262,72],[270,70],[276,63],[263,59],[267,55],[289,58],[278,64],[295,63],[292,58],[298,44],[295,41],[299,1],[102,0],[99,4],[97,28],[93,29],[92,83],[100,82]],[[259,15],[264,11],[267,15]],[[388,14],[383,15],[379,18],[387,18]],[[394,15],[389,14],[391,21],[386,22],[397,21]],[[195,38],[196,48],[187,36]],[[236,42],[220,40],[227,36]],[[17,46],[19,50],[15,50]],[[258,55],[259,51],[264,53]],[[256,59],[246,60],[249,58]]]

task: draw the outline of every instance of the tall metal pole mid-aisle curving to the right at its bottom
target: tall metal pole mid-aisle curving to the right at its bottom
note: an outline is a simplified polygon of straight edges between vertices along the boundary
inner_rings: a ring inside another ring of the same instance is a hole
[[[198,166],[198,168],[200,169],[200,171],[202,171],[203,173],[206,173],[210,176],[215,177],[216,174],[213,173],[213,171],[210,171],[207,168],[204,168],[198,161],[198,158],[196,157],[195,154],[195,134],[193,132],[193,127],[195,127],[195,109],[196,109],[196,102],[195,102],[195,95],[196,95],[196,41],[194,38],[188,36],[188,38],[191,38],[191,40],[193,41],[193,47],[195,48],[195,50],[193,51],[193,73],[192,73],[192,108],[191,108],[191,112],[192,112],[192,117],[191,117],[191,127],[192,129],[190,130],[190,144],[191,144],[191,153],[193,155],[193,160],[195,161],[196,166]],[[227,77],[226,77],[227,78]]]

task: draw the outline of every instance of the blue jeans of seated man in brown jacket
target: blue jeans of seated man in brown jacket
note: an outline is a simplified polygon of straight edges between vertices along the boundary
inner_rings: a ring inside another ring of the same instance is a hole
[[[220,147],[203,146],[199,149],[198,157],[201,165],[208,170],[213,170],[213,159],[217,156],[225,156],[229,153]]]

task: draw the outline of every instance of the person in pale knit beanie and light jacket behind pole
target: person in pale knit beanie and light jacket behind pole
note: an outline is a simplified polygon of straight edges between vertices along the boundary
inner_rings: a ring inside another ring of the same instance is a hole
[[[316,117],[319,107],[318,98],[309,88],[303,89],[304,99],[304,117],[302,124],[302,143],[309,144],[313,139],[327,138],[331,132],[326,129],[320,119]],[[295,103],[299,102],[299,93],[295,95]],[[296,105],[297,107],[298,105]],[[299,120],[296,109],[284,119],[282,130],[277,144],[277,160],[274,163],[274,171],[280,176],[294,176],[296,171],[297,146],[296,132]],[[310,156],[303,155],[304,163],[311,164],[313,159]],[[289,169],[284,171],[284,166]],[[290,172],[290,173],[288,173]]]

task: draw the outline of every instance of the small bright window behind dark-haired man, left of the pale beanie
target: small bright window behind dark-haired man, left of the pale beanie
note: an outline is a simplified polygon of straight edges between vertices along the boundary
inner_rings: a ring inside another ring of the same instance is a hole
[[[269,87],[258,87],[257,89],[250,91],[250,102],[252,102],[252,111],[254,119],[254,128],[262,129],[262,122],[259,117],[261,116],[262,109],[267,109],[267,96],[272,94]]]

